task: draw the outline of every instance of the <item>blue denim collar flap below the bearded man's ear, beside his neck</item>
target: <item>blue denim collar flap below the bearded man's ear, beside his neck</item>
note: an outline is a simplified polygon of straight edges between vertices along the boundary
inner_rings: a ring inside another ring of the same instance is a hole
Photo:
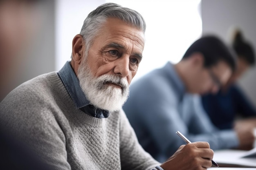
[[[67,92],[70,94],[70,97],[72,98],[77,109],[90,104],[81,89],[79,79],[76,77],[70,62],[66,62],[63,68],[61,68],[61,70],[58,72],[58,75],[67,89]]]

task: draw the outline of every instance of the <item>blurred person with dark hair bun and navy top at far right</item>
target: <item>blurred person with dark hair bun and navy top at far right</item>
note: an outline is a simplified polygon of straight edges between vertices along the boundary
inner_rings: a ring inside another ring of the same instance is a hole
[[[252,128],[256,126],[255,106],[236,81],[254,66],[255,53],[253,45],[239,29],[234,30],[232,46],[238,57],[236,71],[218,93],[202,96],[202,104],[213,124],[220,129]]]

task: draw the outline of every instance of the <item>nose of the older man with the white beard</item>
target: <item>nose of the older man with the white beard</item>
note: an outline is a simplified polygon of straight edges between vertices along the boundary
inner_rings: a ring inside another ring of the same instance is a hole
[[[122,77],[127,77],[130,73],[130,57],[122,56],[116,60],[116,66],[114,68],[114,73],[121,75]]]

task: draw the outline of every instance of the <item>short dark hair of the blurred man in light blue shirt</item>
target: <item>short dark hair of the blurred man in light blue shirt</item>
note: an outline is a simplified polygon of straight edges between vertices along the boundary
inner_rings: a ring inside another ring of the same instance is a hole
[[[236,69],[236,55],[232,49],[227,46],[220,38],[215,35],[205,35],[193,42],[182,57],[189,58],[193,53],[202,53],[204,56],[204,67],[209,68],[218,64],[218,62],[226,62],[234,71]]]

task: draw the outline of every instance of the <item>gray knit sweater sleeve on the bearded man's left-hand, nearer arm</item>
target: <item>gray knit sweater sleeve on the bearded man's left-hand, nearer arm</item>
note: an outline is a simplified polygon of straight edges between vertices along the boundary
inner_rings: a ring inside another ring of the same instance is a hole
[[[50,170],[71,170],[65,135],[46,101],[29,84],[16,88],[0,103],[1,128],[31,148]]]

